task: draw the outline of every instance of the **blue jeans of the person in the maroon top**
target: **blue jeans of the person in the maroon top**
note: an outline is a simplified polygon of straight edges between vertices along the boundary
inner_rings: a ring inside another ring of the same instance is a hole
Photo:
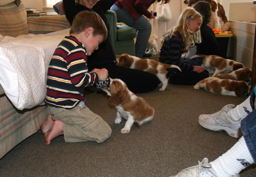
[[[137,29],[137,39],[135,43],[135,55],[142,58],[143,54],[146,52],[147,43],[151,34],[151,24],[148,22],[144,16],[140,16],[138,19],[134,20],[129,12],[123,7],[113,5],[110,10],[115,11],[117,14],[117,19],[125,23],[129,27]]]

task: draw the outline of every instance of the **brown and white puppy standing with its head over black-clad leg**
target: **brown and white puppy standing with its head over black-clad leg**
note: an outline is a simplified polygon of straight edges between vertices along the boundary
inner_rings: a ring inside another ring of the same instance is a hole
[[[155,74],[163,84],[159,89],[161,91],[166,90],[168,85],[168,80],[166,78],[167,68],[176,68],[181,71],[179,66],[162,64],[159,61],[146,58],[138,58],[135,56],[130,56],[127,53],[121,54],[121,56],[117,58],[116,64],[117,66],[122,66],[123,68],[138,69]]]

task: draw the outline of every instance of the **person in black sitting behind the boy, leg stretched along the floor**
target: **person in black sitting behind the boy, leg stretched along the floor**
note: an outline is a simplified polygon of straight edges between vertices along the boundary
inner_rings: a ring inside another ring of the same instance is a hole
[[[105,12],[110,9],[115,1],[116,0],[80,0],[79,3],[76,3],[75,0],[63,0],[63,5],[66,18],[70,24],[72,24],[73,19],[80,11],[93,10],[101,16],[108,29],[107,39],[99,45],[98,49],[95,50],[91,56],[88,56],[89,70],[105,68],[109,71],[109,77],[122,79],[127,87],[135,93],[155,90],[160,83],[156,75],[146,71],[121,68],[115,65],[116,59],[109,33],[109,23],[105,16]]]

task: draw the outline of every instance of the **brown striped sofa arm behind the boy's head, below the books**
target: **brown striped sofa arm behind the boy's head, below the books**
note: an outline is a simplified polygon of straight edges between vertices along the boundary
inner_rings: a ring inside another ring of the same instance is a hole
[[[28,33],[46,34],[70,27],[65,15],[30,16],[27,18]]]

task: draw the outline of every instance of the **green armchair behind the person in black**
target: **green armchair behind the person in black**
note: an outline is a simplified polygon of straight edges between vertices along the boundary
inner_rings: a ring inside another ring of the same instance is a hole
[[[108,10],[106,18],[110,25],[110,36],[115,54],[128,53],[135,56],[134,37],[136,37],[136,29],[127,26],[117,26],[117,14]]]

